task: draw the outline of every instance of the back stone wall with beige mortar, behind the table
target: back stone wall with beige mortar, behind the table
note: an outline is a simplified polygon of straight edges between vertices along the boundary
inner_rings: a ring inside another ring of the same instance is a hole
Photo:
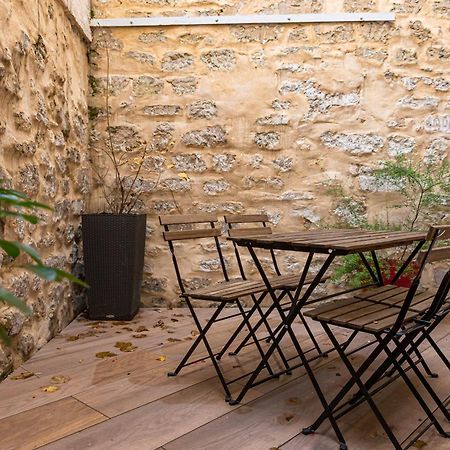
[[[158,214],[267,212],[284,229],[357,226],[385,220],[385,203],[396,196],[392,186],[374,183],[380,161],[448,157],[447,0],[96,0],[93,9],[103,18],[397,13],[395,23],[95,31],[92,151],[108,141],[106,48],[116,151],[138,154],[152,144],[137,207],[149,214],[147,304],[177,302]],[[101,209],[99,191],[93,200]],[[231,263],[229,244],[225,249]],[[296,255],[284,255],[283,265],[295,270]],[[198,244],[188,248],[183,269],[202,286],[220,266]]]

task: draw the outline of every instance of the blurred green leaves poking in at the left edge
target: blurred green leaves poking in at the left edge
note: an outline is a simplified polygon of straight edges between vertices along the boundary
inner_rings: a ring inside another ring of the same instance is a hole
[[[35,213],[35,211],[39,209],[51,210],[49,206],[35,202],[21,192],[3,187],[3,180],[0,180],[0,221],[3,221],[7,217],[16,217],[35,225],[40,221],[39,217]],[[0,250],[8,255],[12,260],[16,260],[22,254],[27,255],[33,262],[22,266],[22,268],[34,273],[44,280],[59,282],[67,279],[73,283],[87,287],[86,283],[74,277],[70,273],[46,266],[42,262],[38,251],[29,245],[25,245],[21,242],[0,239]],[[16,297],[14,294],[1,286],[0,302],[17,308],[24,314],[31,314],[30,308],[26,305],[23,299]],[[7,331],[1,326],[0,341],[10,344]]]

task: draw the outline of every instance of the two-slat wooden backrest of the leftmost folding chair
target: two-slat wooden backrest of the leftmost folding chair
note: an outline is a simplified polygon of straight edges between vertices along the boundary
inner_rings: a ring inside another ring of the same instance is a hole
[[[216,216],[213,214],[163,215],[159,217],[159,222],[164,227],[163,237],[169,244],[178,285],[182,294],[186,292],[186,288],[184,286],[180,265],[178,263],[177,251],[175,250],[174,245],[175,241],[212,239],[219,257],[224,280],[229,280],[225,260],[219,242],[219,236],[222,235],[222,231]]]

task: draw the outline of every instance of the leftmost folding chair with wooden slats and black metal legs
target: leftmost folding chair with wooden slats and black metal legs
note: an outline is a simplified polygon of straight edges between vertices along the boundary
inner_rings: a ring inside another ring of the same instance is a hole
[[[225,377],[218,362],[220,359],[218,358],[218,356],[223,352],[220,353],[213,352],[211,345],[208,342],[207,333],[210,331],[214,323],[224,319],[239,316],[242,318],[243,324],[241,329],[244,328],[244,326],[247,327],[248,334],[252,339],[253,343],[255,344],[262,358],[264,356],[263,348],[261,346],[260,340],[256,336],[256,333],[250,323],[248,311],[245,311],[241,303],[241,298],[249,296],[250,298],[253,299],[255,304],[259,305],[261,300],[257,297],[257,295],[259,296],[266,295],[267,288],[262,281],[243,280],[243,279],[230,280],[225,260],[222,254],[222,248],[219,242],[219,236],[221,236],[222,232],[220,227],[217,228],[218,223],[217,218],[215,216],[211,214],[167,215],[167,216],[160,216],[159,221],[161,225],[164,227],[163,236],[164,240],[168,242],[169,249],[172,255],[172,261],[175,268],[178,285],[181,290],[181,297],[183,297],[184,300],[186,301],[186,304],[190,310],[192,318],[199,332],[198,337],[191,345],[188,352],[179,363],[178,367],[173,372],[170,372],[168,375],[176,376],[183,369],[183,367],[197,363],[200,360],[210,359],[214,365],[219,380],[225,391],[226,400],[228,401],[229,399],[231,399],[231,394],[228,386],[231,383],[237,381],[238,379],[241,379],[242,376],[234,380],[229,381],[225,380]],[[202,228],[199,228],[199,226]],[[209,239],[210,241],[212,241],[213,244],[212,248],[215,249],[218,260],[220,262],[220,267],[224,278],[223,282],[219,284],[215,283],[212,286],[208,286],[197,290],[190,290],[186,288],[185,281],[181,274],[180,264],[177,258],[178,253],[182,250],[178,245],[178,243],[192,239],[196,240]],[[214,313],[211,315],[208,322],[204,326],[202,325],[201,321],[199,320],[196,314],[195,307],[192,303],[193,300],[214,302],[218,305],[217,309],[214,311]],[[239,313],[220,318],[219,316],[221,312],[225,309],[225,307],[232,304],[237,306]],[[262,311],[260,309],[257,310],[262,314]],[[269,333],[269,336],[273,337],[272,330],[268,325],[267,321],[263,320],[263,323],[266,326],[266,331]],[[205,358],[200,358],[189,362],[192,354],[194,353],[195,349],[201,342],[203,342],[203,344],[205,345],[208,356]],[[288,362],[282,350],[279,347],[278,353],[285,367],[288,369],[289,368]],[[266,369],[269,372],[269,375],[272,376],[274,374],[270,366],[270,363],[267,363]]]

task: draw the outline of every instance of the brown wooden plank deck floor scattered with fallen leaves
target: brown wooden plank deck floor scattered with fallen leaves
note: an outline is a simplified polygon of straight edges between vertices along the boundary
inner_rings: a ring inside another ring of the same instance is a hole
[[[202,311],[203,318],[208,314],[210,310]],[[436,330],[447,353],[449,323]],[[232,321],[217,325],[215,346],[234,325]],[[317,324],[311,325],[320,345],[329,348]],[[168,378],[167,371],[175,367],[195,334],[184,309],[144,309],[131,323],[94,323],[80,317],[0,384],[0,449],[338,448],[328,423],[313,436],[299,434],[320,412],[302,368],[253,389],[234,407],[224,402],[210,363],[195,364]],[[308,346],[300,326],[298,334]],[[355,364],[363,360],[364,352],[353,356]],[[448,371],[431,349],[424,355],[441,374],[430,382],[442,398],[448,397]],[[225,358],[223,367],[228,375],[240,374],[257,359],[252,346],[239,357]],[[335,353],[317,359],[313,366],[327,396],[348,378]],[[450,448],[434,428],[427,429],[423,411],[400,380],[376,399],[399,439],[418,439],[416,448]],[[340,424],[350,449],[392,448],[365,404]]]

